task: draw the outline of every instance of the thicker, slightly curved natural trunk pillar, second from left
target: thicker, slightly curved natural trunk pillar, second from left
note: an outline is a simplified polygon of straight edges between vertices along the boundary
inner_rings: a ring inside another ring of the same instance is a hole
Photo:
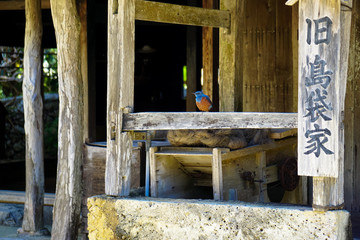
[[[75,0],[51,0],[58,49],[59,131],[52,239],[76,239],[80,224],[83,82],[80,17]]]

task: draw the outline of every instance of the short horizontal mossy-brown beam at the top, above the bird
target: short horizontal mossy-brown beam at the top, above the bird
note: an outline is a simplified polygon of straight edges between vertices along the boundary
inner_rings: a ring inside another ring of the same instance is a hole
[[[136,20],[193,26],[230,26],[230,13],[215,9],[136,0]]]

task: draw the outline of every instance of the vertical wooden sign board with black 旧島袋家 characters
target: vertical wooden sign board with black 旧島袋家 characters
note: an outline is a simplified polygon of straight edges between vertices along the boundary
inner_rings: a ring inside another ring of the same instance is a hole
[[[340,0],[299,2],[298,174],[338,177],[343,153]]]

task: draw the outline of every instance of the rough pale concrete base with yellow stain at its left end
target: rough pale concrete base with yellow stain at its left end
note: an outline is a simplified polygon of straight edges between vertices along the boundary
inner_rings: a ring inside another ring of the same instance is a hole
[[[88,199],[89,239],[351,239],[350,214],[310,207],[155,198]]]

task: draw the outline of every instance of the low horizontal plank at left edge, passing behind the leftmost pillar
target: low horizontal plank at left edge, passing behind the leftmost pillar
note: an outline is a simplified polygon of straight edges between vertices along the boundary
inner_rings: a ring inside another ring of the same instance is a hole
[[[54,206],[54,201],[55,201],[54,193],[44,193],[44,206]],[[24,204],[25,203],[25,192],[0,190],[0,202]]]

